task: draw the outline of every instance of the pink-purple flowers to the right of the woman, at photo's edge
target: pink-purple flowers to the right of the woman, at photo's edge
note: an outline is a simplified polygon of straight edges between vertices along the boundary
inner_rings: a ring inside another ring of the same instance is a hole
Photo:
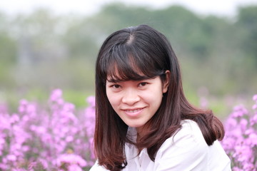
[[[257,170],[257,95],[252,110],[243,105],[233,108],[225,125],[223,148],[231,158],[233,171]]]

